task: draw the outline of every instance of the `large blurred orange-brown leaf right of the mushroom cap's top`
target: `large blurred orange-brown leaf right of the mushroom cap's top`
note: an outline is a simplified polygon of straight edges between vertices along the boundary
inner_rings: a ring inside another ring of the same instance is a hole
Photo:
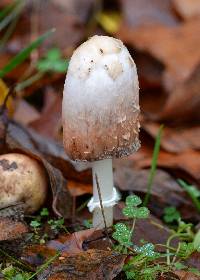
[[[185,81],[200,60],[200,19],[170,28],[145,25],[138,28],[122,25],[118,37],[138,51],[146,52],[166,67],[163,83],[168,92]]]

